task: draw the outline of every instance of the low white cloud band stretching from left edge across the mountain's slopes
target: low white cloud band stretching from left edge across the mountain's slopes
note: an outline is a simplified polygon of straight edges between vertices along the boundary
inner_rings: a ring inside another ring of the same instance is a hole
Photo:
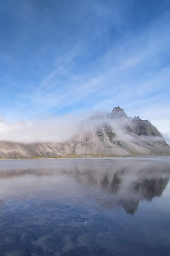
[[[156,136],[139,137],[134,133],[128,132],[126,127],[133,126],[132,118],[108,118],[107,113],[104,112],[94,113],[90,118],[86,118],[87,115],[88,113],[84,112],[77,115],[65,115],[26,123],[23,121],[0,122],[0,141],[21,143],[63,142],[72,139],[77,133],[95,132],[96,129],[101,128],[106,123],[113,127],[113,132],[116,134],[115,140],[127,142],[134,141],[137,138],[147,141],[163,140],[163,138]],[[168,142],[168,135],[165,138]]]

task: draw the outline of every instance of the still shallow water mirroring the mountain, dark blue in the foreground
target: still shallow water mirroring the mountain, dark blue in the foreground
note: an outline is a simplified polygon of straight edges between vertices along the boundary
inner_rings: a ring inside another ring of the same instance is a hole
[[[0,256],[170,255],[170,158],[0,161]]]

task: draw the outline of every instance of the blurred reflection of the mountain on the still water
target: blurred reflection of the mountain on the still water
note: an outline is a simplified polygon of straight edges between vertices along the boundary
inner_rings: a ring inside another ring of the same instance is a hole
[[[57,176],[68,176],[74,178],[77,182],[84,185],[94,186],[95,189],[101,190],[103,193],[109,193],[104,200],[96,197],[95,199],[99,204],[105,206],[123,206],[127,213],[133,214],[138,209],[138,204],[141,200],[151,201],[154,197],[161,197],[167,183],[170,179],[170,167],[169,162],[162,162],[155,160],[147,161],[118,161],[112,160],[110,162],[95,163],[91,160],[91,165],[81,163],[80,166],[68,166],[59,168],[44,168],[44,169],[23,169],[23,170],[1,170],[0,179],[14,178],[14,186],[18,186],[16,177],[22,177],[28,179],[29,176],[49,176],[51,179],[56,179]],[[49,181],[49,180],[48,180]],[[68,182],[68,181],[67,181]],[[64,185],[67,185],[63,184]],[[27,183],[24,191],[23,199],[29,195],[31,187],[35,184]],[[38,187],[40,193],[42,190],[50,189],[49,183],[43,184]],[[56,188],[57,189],[57,188]],[[11,196],[17,197],[14,194],[15,189],[11,189]],[[26,192],[26,193],[25,193]],[[1,194],[0,194],[1,195]],[[1,198],[1,202],[3,197]]]

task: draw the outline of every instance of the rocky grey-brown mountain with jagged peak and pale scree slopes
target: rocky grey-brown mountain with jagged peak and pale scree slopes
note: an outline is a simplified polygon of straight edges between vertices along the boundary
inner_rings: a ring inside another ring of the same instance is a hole
[[[0,141],[1,158],[154,155],[170,155],[161,133],[149,120],[127,117],[119,106],[82,120],[79,132],[66,141]]]

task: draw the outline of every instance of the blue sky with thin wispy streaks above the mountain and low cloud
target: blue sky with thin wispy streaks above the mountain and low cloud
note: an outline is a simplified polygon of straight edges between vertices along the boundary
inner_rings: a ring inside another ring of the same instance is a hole
[[[123,108],[170,138],[170,1],[0,1],[0,119]]]

